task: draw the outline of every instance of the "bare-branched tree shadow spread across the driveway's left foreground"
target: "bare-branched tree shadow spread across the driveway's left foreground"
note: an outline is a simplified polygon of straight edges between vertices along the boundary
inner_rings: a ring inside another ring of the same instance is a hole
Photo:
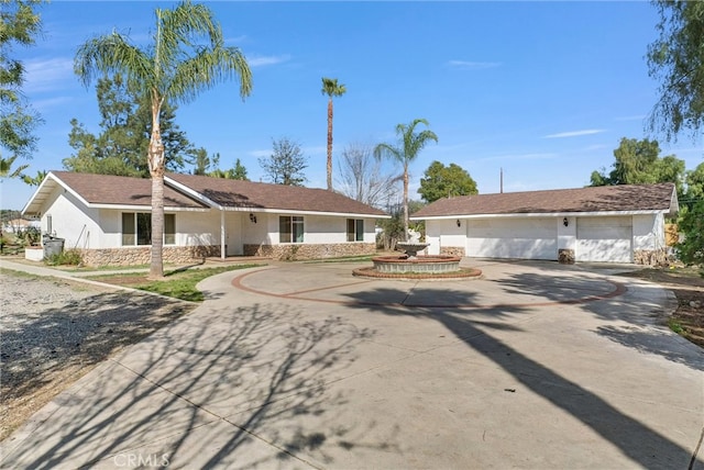
[[[160,329],[59,395],[58,412],[1,466],[120,466],[139,456],[175,467],[290,467],[306,466],[300,455],[312,450],[329,463],[323,444],[370,445],[366,429],[337,423],[345,396],[329,393],[329,381],[373,332],[282,304],[198,315]],[[308,415],[330,425],[311,432],[301,424]],[[380,446],[394,445],[389,437]]]

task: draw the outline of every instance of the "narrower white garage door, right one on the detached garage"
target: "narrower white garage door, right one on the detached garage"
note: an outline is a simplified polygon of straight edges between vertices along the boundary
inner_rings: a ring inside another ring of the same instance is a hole
[[[576,260],[630,262],[632,217],[576,220]]]

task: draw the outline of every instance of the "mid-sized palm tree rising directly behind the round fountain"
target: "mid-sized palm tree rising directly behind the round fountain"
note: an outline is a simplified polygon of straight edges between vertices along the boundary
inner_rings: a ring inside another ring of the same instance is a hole
[[[398,124],[396,126],[396,135],[398,135],[399,139],[397,146],[378,144],[374,147],[374,156],[377,159],[386,156],[400,161],[404,166],[404,239],[408,237],[408,164],[418,157],[418,154],[429,141],[438,142],[438,136],[432,131],[425,130],[416,133],[418,124],[430,125],[425,119],[414,120],[410,124]]]

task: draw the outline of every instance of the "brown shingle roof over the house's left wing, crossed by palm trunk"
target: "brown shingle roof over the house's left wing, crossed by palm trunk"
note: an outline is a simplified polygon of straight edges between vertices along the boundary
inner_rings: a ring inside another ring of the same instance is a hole
[[[151,179],[70,171],[52,171],[52,174],[90,204],[152,205]],[[164,206],[207,208],[168,187],[164,188]]]

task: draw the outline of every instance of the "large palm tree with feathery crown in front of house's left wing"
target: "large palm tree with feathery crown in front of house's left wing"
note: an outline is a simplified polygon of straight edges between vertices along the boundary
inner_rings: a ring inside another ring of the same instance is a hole
[[[173,10],[155,10],[156,31],[147,48],[131,44],[117,32],[82,44],[74,70],[86,87],[95,75],[122,74],[128,88],[150,97],[152,128],[147,152],[152,177],[152,253],[150,278],[164,277],[164,168],[165,152],[160,111],[165,101],[187,103],[197,94],[228,79],[240,80],[240,96],[252,90],[252,74],[244,55],[227,47],[220,24],[204,4],[186,0]],[[204,41],[205,40],[205,41]],[[205,44],[200,44],[204,41]]]

